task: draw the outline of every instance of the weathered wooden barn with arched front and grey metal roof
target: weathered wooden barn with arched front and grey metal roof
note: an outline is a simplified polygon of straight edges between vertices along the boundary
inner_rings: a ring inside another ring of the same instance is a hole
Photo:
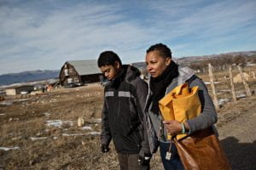
[[[67,61],[60,72],[61,86],[83,85],[88,82],[100,82],[102,72],[96,59]]]

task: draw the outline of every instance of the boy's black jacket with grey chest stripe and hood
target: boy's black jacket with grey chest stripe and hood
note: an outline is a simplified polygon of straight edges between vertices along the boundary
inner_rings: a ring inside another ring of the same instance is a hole
[[[115,149],[122,154],[150,153],[143,128],[148,85],[139,76],[137,68],[122,65],[119,75],[104,90],[102,144],[108,145],[113,139]]]

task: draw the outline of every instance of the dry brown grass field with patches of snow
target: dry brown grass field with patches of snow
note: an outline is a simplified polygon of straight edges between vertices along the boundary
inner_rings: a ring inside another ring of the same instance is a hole
[[[229,82],[222,78],[226,74],[221,72],[216,75],[221,82],[217,86],[218,92],[230,89]],[[199,76],[208,81],[207,76]],[[249,86],[256,89],[255,80]],[[242,84],[236,85],[236,89],[242,91]],[[20,149],[0,150],[0,169],[119,169],[113,143],[110,152],[102,154],[99,136],[87,134],[101,132],[98,119],[102,114],[102,93],[102,87],[91,84],[81,88],[58,89],[43,95],[5,97],[5,101],[15,102],[13,105],[0,105],[0,114],[4,114],[0,116],[0,147]],[[219,96],[231,98],[228,92]],[[84,126],[90,126],[91,131],[78,127],[80,116],[85,120]],[[49,127],[46,125],[49,120],[69,122],[61,127]],[[222,123],[227,119],[222,116],[220,120]],[[155,170],[163,169],[159,153],[155,154],[151,166]]]

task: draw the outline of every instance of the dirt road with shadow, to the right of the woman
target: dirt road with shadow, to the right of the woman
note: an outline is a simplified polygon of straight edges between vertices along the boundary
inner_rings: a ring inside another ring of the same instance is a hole
[[[219,112],[218,133],[234,170],[256,169],[256,96],[230,103]]]

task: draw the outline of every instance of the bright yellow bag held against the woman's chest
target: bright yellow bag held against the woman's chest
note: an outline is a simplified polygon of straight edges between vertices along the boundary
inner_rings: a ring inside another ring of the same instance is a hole
[[[159,107],[163,120],[175,120],[186,122],[201,114],[201,101],[198,97],[198,87],[189,89],[187,82],[172,89],[163,99],[159,101]],[[177,139],[182,139],[187,134],[177,134]],[[168,135],[167,139],[172,136]]]

